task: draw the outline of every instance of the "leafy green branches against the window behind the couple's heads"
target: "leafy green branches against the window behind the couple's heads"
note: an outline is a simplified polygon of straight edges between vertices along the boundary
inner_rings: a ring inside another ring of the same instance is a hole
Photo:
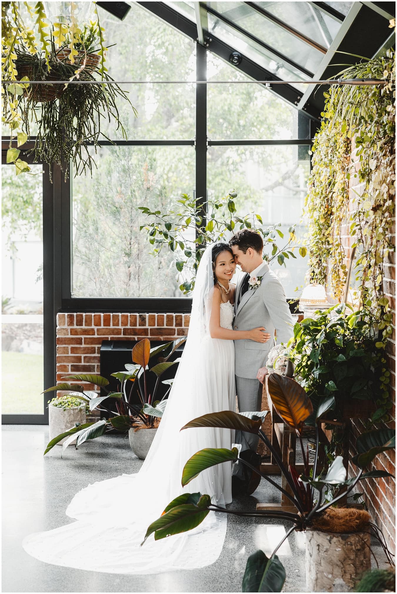
[[[177,279],[181,282],[179,289],[184,295],[194,288],[196,271],[207,244],[227,241],[240,229],[255,229],[262,235],[263,260],[267,263],[277,260],[285,267],[285,261],[296,259],[297,254],[306,256],[306,248],[296,245],[295,225],[290,226],[288,236],[284,236],[281,223],[265,227],[260,214],[238,216],[234,204],[236,197],[237,192],[231,190],[226,197],[200,202],[200,210],[188,194],[181,195],[177,210],[161,212],[146,206],[138,207],[151,220],[139,228],[147,232],[148,241],[153,245],[151,254],[157,256],[164,248],[175,253]]]

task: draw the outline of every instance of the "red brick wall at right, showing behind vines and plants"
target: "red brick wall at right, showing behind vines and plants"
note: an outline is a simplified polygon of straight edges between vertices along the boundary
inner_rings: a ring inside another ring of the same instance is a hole
[[[352,152],[352,174],[350,178],[350,209],[352,208],[352,199],[357,196],[355,192],[360,194],[361,191],[364,189],[364,185],[359,183],[358,176],[354,177],[354,169],[358,170],[358,163],[355,157],[355,150]],[[353,189],[354,188],[354,191]],[[393,231],[395,233],[395,230]],[[394,235],[395,237],[395,235]],[[352,239],[348,235],[348,225],[344,225],[342,229],[342,244],[345,247],[345,261],[344,263],[348,266],[348,258],[350,257],[351,249],[350,245],[352,244]],[[393,402],[395,403],[395,380],[396,380],[396,343],[395,343],[395,311],[396,311],[396,287],[395,287],[395,253],[391,252],[389,254],[388,260],[385,261],[383,264],[384,267],[384,283],[383,283],[383,290],[385,291],[385,295],[389,298],[390,304],[390,311],[393,313],[393,335],[388,340],[388,347],[386,349],[385,358],[387,359],[386,367],[390,371],[390,390],[391,395],[393,398]],[[328,287],[330,290],[330,287]],[[329,301],[336,302],[335,299],[332,298],[330,292],[328,292]],[[394,418],[395,416],[395,406],[389,410],[390,416]],[[395,429],[395,422],[388,423],[389,428]],[[352,419],[352,440],[350,444],[350,454],[351,457],[355,455],[355,440],[360,435],[361,432],[366,431],[364,424],[360,419]],[[388,472],[395,475],[395,451],[390,450],[387,452],[383,452],[376,457],[370,467],[367,467],[368,471],[370,470],[387,470]],[[356,473],[357,469],[354,465],[349,465],[349,473]],[[379,526],[380,530],[382,530],[383,535],[385,536],[386,542],[388,543],[389,548],[392,552],[395,552],[395,479],[388,477],[388,478],[378,478],[378,479],[366,479],[366,481],[361,481],[360,486],[358,487],[359,492],[364,492],[364,500],[368,505],[369,511],[371,516],[373,517],[374,521],[376,522],[377,526]]]

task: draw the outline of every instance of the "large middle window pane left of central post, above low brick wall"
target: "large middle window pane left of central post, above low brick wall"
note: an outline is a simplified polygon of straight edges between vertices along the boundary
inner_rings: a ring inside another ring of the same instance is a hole
[[[181,297],[176,260],[168,247],[154,257],[138,210],[174,210],[193,195],[193,147],[103,147],[93,179],[72,183],[72,296]]]

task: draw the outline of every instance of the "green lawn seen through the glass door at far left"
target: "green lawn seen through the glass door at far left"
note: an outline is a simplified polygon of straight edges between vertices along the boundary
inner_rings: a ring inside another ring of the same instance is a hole
[[[1,412],[43,414],[43,355],[1,352]]]

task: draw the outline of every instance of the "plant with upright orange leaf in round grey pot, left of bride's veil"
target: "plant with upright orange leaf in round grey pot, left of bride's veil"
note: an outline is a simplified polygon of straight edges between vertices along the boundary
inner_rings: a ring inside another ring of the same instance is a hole
[[[163,416],[167,396],[171,389],[172,380],[165,380],[164,384],[169,385],[169,388],[161,397],[161,400],[156,400],[161,377],[164,372],[179,362],[179,359],[174,361],[170,359],[177,347],[182,345],[185,340],[186,337],[182,337],[153,348],[150,348],[150,340],[147,338],[137,342],[134,349],[132,349],[132,364],[127,364],[124,371],[117,371],[112,374],[119,381],[119,391],[117,392],[107,389],[109,380],[101,375],[77,374],[63,377],[64,380],[80,380],[95,384],[107,392],[106,396],[98,396],[96,392],[84,391],[84,387],[80,384],[66,382],[47,388],[45,393],[58,390],[70,391],[74,398],[85,403],[90,411],[99,409],[107,413],[109,418],[100,419],[97,422],[69,425],[65,431],[49,441],[45,454],[62,440],[62,457],[63,452],[71,443],[75,443],[77,449],[85,441],[100,437],[100,435],[116,429],[117,431],[129,432],[129,443],[132,451],[136,456],[144,459],[153,441],[160,422],[159,419]],[[158,357],[158,355],[161,355],[161,357]],[[147,368],[151,359],[154,358],[157,358],[157,362],[154,361],[154,365],[150,367],[150,372],[153,372],[155,381],[153,390],[150,391]],[[64,438],[67,439],[63,441]]]

